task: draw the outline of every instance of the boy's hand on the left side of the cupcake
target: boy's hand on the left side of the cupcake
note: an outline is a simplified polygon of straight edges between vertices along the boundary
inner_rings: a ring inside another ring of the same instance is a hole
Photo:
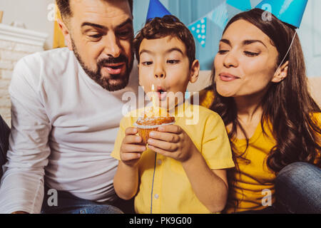
[[[126,128],[126,136],[121,143],[121,161],[130,167],[138,164],[141,153],[146,150],[146,145],[140,145],[143,139],[137,133],[137,128]]]

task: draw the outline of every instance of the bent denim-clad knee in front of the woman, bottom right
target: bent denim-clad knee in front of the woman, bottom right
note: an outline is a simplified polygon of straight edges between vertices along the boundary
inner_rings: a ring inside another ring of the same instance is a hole
[[[277,207],[288,213],[321,213],[321,169],[305,162],[284,167],[275,180]]]

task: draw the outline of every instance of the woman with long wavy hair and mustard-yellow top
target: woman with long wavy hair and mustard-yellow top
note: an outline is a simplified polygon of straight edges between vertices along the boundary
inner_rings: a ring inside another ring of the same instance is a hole
[[[200,95],[223,118],[233,148],[226,212],[320,213],[320,108],[295,29],[262,13],[229,21],[213,86]]]

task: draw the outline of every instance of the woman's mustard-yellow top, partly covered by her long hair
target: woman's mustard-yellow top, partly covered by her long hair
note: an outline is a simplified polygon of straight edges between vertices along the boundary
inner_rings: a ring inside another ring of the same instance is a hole
[[[200,94],[200,105],[209,108],[213,102],[213,92],[203,90]],[[321,123],[320,113],[314,115],[314,117]],[[234,174],[235,186],[229,186],[230,197],[233,199],[234,207],[233,205],[227,207],[226,211],[228,213],[264,209],[270,203],[273,204],[275,202],[273,182],[276,176],[275,172],[272,172],[267,167],[266,159],[276,142],[272,136],[270,123],[264,123],[263,128],[266,134],[263,134],[262,126],[259,123],[254,135],[249,140],[248,149],[242,156],[250,162],[242,159],[236,160],[240,173]],[[245,151],[246,140],[234,140],[233,143],[238,152]],[[238,207],[236,207],[237,201]]]

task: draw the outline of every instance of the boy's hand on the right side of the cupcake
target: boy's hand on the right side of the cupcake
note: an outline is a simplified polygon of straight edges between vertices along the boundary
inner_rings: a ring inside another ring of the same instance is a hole
[[[165,125],[149,134],[148,148],[167,157],[185,162],[198,151],[187,133],[178,125]]]

